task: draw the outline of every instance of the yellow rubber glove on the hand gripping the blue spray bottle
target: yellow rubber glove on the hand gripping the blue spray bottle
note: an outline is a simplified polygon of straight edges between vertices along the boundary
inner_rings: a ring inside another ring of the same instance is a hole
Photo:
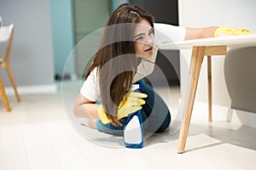
[[[142,105],[146,103],[145,100],[143,100],[143,98],[148,97],[147,94],[142,94],[138,92],[130,92],[127,95],[128,95],[127,99],[125,99],[124,97],[124,99],[121,101],[119,105],[118,119],[121,119],[125,116],[129,116],[131,113],[134,113],[136,111],[143,109]],[[110,122],[110,120],[108,119],[108,116],[103,110],[102,105],[99,105],[98,115],[102,120],[103,124],[107,124],[108,122]]]

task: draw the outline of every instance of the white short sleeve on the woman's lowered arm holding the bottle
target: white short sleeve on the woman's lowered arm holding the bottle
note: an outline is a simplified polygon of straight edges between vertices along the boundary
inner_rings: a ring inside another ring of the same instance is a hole
[[[96,68],[90,72],[90,75],[84,81],[80,94],[90,101],[97,101],[100,98],[99,79]]]

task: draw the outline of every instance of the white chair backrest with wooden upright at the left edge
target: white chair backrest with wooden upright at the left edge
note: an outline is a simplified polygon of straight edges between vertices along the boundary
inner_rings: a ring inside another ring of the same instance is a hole
[[[3,60],[9,59],[10,49],[12,47],[14,37],[14,24],[10,24],[9,26],[1,26],[0,27],[0,42],[8,42],[5,55],[3,56]]]

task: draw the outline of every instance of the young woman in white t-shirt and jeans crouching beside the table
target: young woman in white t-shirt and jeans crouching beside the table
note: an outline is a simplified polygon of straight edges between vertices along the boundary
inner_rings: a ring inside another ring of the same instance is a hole
[[[142,59],[154,62],[156,44],[218,37],[228,31],[233,30],[218,26],[185,28],[156,24],[154,17],[143,8],[121,4],[109,17],[102,45],[74,105],[75,116],[90,119],[90,126],[104,133],[123,135],[127,116],[141,110],[145,133],[165,131],[170,125],[171,114],[163,99],[143,80],[136,82],[143,85],[139,92],[130,91],[138,65]],[[242,30],[236,32],[247,34]]]

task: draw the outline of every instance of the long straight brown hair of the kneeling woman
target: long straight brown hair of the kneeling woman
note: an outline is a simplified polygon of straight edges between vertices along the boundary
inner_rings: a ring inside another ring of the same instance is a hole
[[[153,27],[154,17],[137,5],[123,3],[115,9],[104,28],[101,47],[87,71],[86,77],[98,68],[102,105],[114,126],[122,125],[117,118],[118,106],[137,71],[133,27],[141,20],[148,20]]]

